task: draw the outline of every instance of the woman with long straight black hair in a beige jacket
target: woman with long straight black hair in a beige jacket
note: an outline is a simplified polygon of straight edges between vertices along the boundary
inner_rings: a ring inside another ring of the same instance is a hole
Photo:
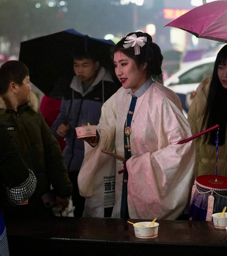
[[[212,77],[206,77],[196,89],[188,112],[193,134],[219,124],[218,175],[227,175],[227,45],[217,54]],[[213,130],[196,139],[194,177],[215,174],[216,133]]]

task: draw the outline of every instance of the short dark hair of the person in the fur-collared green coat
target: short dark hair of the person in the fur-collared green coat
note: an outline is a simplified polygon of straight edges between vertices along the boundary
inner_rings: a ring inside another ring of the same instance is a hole
[[[0,67],[0,95],[7,92],[11,82],[21,85],[29,75],[27,66],[20,61],[7,61]]]

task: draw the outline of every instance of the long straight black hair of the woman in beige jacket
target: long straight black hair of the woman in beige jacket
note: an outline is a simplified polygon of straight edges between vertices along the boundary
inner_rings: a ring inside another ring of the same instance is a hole
[[[227,89],[223,88],[217,74],[218,65],[227,66],[227,45],[223,46],[217,54],[214,64],[214,71],[210,82],[209,93],[207,96],[206,106],[204,110],[204,118],[201,131],[206,127],[219,124],[218,145],[223,145],[226,137],[226,113],[227,113]],[[210,145],[215,145],[216,130],[206,133],[203,142],[206,141]]]

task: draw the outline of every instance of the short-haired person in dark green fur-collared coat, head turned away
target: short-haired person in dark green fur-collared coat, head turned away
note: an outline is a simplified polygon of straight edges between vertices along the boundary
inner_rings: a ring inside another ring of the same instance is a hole
[[[37,187],[28,202],[13,209],[5,207],[5,215],[40,218],[51,214],[41,200],[50,185],[55,191],[56,205],[64,210],[72,185],[59,143],[39,111],[38,99],[29,84],[29,70],[22,62],[8,61],[0,67],[0,96],[0,121],[37,178]]]

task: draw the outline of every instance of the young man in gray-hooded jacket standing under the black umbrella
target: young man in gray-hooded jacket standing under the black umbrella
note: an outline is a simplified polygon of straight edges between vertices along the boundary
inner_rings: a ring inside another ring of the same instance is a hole
[[[94,54],[75,52],[73,69],[75,75],[71,80],[59,80],[63,99],[60,114],[51,130],[56,137],[66,140],[63,155],[73,184],[74,216],[81,217],[85,198],[79,195],[77,176],[84,158],[84,142],[77,139],[74,128],[88,122],[97,125],[103,103],[120,85],[114,83],[111,74],[100,66]]]

